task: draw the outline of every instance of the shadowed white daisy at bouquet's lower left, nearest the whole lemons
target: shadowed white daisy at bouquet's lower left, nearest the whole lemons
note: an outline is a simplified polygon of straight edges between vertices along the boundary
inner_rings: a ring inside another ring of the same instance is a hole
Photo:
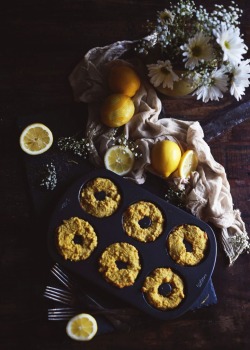
[[[171,62],[167,61],[157,61],[157,64],[148,64],[148,76],[150,77],[150,82],[155,86],[168,87],[173,89],[174,81],[178,81],[179,77],[174,73]]]

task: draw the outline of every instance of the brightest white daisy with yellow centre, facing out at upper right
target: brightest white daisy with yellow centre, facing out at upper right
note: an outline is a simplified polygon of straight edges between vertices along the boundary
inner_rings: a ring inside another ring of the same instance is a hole
[[[227,28],[225,23],[221,23],[218,29],[213,29],[213,34],[224,53],[223,61],[238,64],[243,58],[242,55],[247,52],[247,46],[240,37],[239,28],[233,26]]]

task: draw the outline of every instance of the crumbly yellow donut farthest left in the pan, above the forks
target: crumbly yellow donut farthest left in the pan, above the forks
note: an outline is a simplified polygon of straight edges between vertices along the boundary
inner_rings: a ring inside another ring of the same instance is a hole
[[[79,243],[75,243],[76,237]],[[86,260],[97,246],[94,228],[85,220],[72,217],[57,228],[57,247],[65,260]]]

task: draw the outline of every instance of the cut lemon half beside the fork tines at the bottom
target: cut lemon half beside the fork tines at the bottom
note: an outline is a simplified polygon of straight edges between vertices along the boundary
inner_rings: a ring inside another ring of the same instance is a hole
[[[97,332],[96,319],[89,314],[79,314],[71,318],[66,326],[66,333],[74,340],[87,341]]]

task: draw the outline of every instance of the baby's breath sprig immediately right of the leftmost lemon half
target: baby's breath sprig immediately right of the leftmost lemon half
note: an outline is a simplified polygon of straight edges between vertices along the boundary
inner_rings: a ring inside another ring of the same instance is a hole
[[[93,149],[92,142],[89,139],[77,139],[74,136],[60,137],[57,145],[61,151],[70,151],[84,159],[88,158]]]

